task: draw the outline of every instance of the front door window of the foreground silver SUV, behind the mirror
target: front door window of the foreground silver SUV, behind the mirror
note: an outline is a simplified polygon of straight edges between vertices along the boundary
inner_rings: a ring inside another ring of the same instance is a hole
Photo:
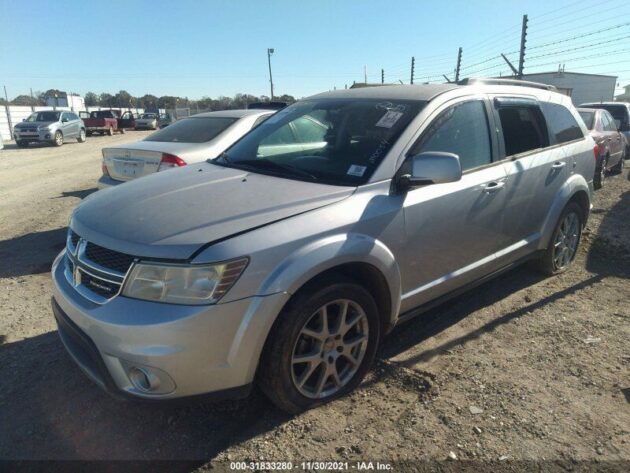
[[[457,154],[464,171],[492,162],[490,128],[484,103],[473,100],[442,112],[424,132],[413,153],[426,151]]]

